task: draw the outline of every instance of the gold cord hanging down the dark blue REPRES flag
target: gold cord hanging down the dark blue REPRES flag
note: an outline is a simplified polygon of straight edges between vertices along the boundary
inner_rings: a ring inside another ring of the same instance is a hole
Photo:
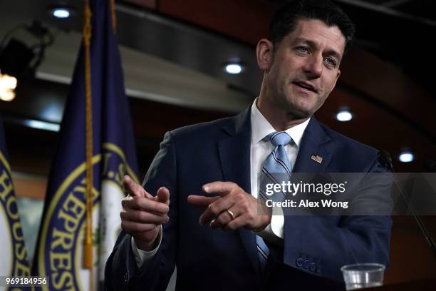
[[[85,119],[86,119],[86,220],[85,243],[83,246],[83,267],[90,269],[90,290],[93,290],[93,120],[91,99],[91,10],[89,0],[85,0],[85,22],[83,24],[83,44],[85,49]]]

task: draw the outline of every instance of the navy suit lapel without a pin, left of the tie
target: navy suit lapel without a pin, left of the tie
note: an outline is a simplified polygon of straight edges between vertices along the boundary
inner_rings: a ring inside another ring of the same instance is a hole
[[[227,136],[218,143],[219,158],[226,181],[237,183],[246,193],[251,193],[250,144],[251,121],[250,107],[236,116],[223,128]],[[251,264],[259,271],[256,237],[250,230],[239,229],[239,235]]]

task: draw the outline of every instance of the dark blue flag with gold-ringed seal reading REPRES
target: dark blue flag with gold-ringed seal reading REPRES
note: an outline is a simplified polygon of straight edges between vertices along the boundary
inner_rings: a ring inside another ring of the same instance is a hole
[[[137,156],[109,0],[90,1],[93,125],[93,267],[83,268],[85,238],[85,49],[82,44],[51,166],[34,275],[45,290],[98,289],[120,232],[122,181],[137,180]]]

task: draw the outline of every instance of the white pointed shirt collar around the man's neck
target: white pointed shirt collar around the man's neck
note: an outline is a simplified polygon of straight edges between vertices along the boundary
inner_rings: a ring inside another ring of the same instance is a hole
[[[266,120],[266,118],[259,111],[259,108],[256,106],[257,98],[254,100],[251,105],[251,145],[259,143],[259,141],[263,140],[269,133],[274,133],[276,130],[271,126],[271,123]],[[303,123],[299,125],[293,126],[286,130],[286,133],[291,136],[292,140],[296,144],[297,148],[300,147],[301,138],[303,138],[303,133],[306,130],[306,127],[311,118],[308,118]]]

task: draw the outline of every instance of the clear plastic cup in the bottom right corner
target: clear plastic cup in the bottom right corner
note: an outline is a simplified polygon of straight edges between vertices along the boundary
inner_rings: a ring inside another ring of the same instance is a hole
[[[341,267],[346,290],[356,290],[383,285],[385,266],[373,262]]]

